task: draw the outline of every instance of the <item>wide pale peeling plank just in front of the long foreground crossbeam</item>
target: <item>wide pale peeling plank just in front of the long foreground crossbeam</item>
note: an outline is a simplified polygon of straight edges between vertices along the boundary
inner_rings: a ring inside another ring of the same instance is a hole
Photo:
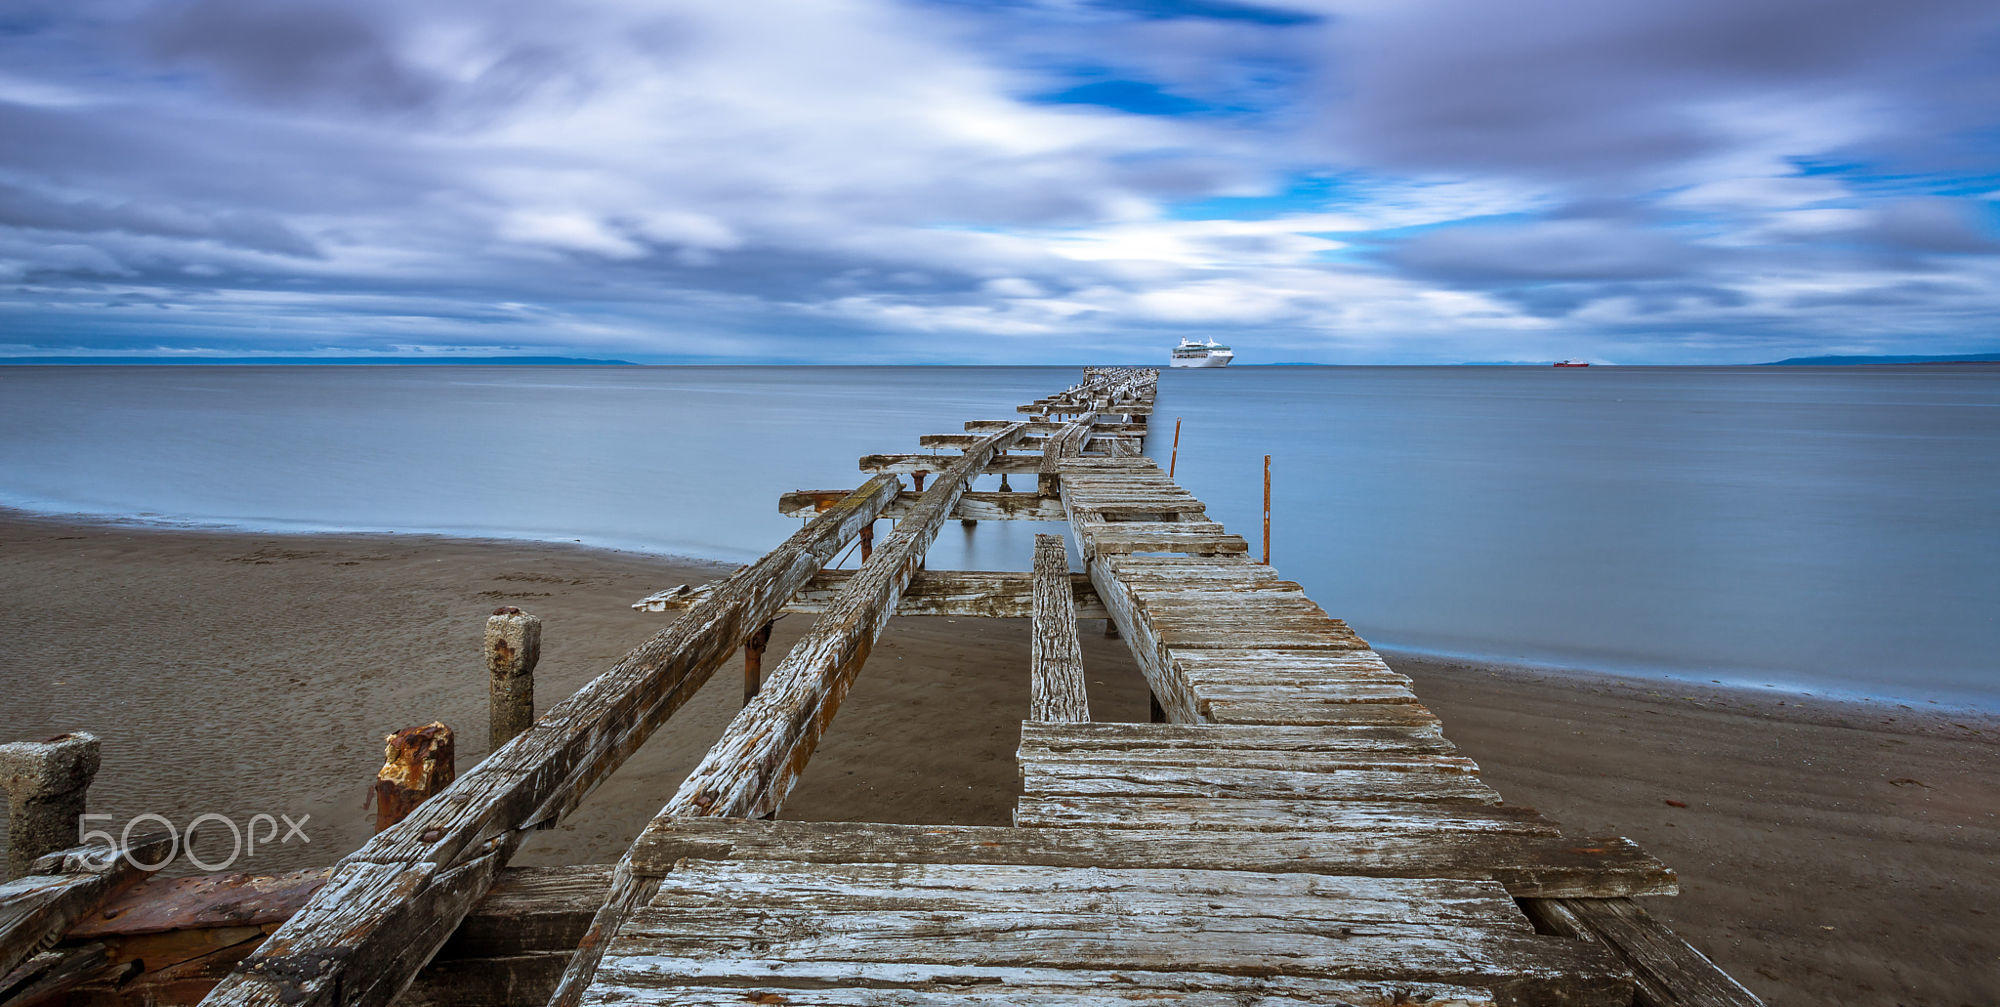
[[[1222,869],[1098,869],[1022,863],[684,861],[650,907],[856,913],[1122,913],[1134,917],[1276,919],[1310,929],[1344,923],[1494,927],[1532,933],[1492,881],[1344,877]]]

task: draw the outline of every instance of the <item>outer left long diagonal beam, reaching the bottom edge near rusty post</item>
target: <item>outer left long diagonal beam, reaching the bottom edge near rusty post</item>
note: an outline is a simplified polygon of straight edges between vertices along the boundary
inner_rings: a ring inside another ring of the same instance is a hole
[[[890,478],[864,484],[342,859],[308,905],[202,1003],[390,1003],[486,893],[522,829],[576,807],[874,521],[896,490]]]

